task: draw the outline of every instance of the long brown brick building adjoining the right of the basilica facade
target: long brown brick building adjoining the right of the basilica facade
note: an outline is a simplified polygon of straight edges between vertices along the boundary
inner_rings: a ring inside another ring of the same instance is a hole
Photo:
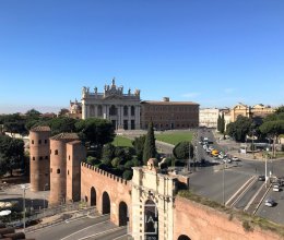
[[[188,129],[199,125],[199,104],[192,101],[141,101],[141,128],[153,122],[157,130]]]

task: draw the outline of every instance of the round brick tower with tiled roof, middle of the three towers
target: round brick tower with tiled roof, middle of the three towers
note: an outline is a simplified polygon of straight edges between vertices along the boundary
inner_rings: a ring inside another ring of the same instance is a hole
[[[50,137],[50,195],[49,205],[66,202],[67,143],[79,140],[76,133],[60,133]],[[80,181],[80,180],[78,180]]]

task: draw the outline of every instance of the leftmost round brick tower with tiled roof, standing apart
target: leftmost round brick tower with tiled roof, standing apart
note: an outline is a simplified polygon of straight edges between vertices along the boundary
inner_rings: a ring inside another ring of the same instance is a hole
[[[49,190],[49,127],[35,127],[29,131],[31,190]]]

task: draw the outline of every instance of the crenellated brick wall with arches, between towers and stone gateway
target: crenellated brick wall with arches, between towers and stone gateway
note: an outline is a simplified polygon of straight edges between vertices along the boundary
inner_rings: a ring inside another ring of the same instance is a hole
[[[110,199],[110,220],[119,225],[119,204],[125,202],[131,216],[131,181],[123,180],[87,164],[81,165],[81,199],[91,205],[91,189],[95,189],[96,207],[103,213],[103,193]]]

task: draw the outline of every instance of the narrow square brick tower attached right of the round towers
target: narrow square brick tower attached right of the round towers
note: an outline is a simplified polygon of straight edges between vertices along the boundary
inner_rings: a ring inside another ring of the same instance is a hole
[[[81,161],[86,157],[86,148],[81,141],[67,143],[67,201],[81,200]]]

